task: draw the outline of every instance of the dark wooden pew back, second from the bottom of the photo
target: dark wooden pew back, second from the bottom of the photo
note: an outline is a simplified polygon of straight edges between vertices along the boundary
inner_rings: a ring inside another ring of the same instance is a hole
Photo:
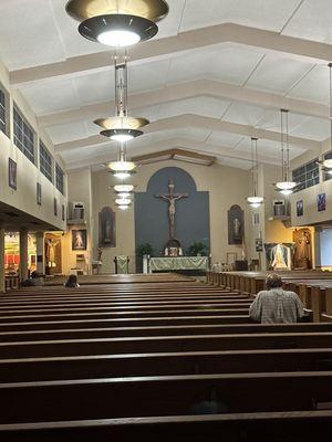
[[[0,396],[2,424],[181,415],[209,400],[229,413],[305,411],[331,402],[332,371],[12,382],[0,385]]]

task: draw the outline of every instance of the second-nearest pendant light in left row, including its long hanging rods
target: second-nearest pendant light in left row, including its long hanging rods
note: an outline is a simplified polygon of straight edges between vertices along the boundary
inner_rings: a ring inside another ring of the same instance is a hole
[[[122,61],[120,61],[122,59]],[[101,135],[114,141],[126,143],[143,135],[141,128],[149,122],[146,118],[128,116],[128,71],[126,53],[121,57],[115,55],[115,116],[98,118],[94,124],[102,127]]]

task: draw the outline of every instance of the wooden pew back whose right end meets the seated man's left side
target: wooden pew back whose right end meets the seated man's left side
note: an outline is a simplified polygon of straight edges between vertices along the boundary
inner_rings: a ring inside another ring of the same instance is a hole
[[[101,327],[135,327],[135,326],[170,326],[170,325],[194,325],[194,324],[248,324],[252,323],[248,315],[210,315],[210,316],[158,316],[141,318],[104,318],[104,319],[66,319],[61,320],[21,320],[11,323],[0,323],[1,332],[29,330],[29,329],[59,329],[59,328],[101,328]]]

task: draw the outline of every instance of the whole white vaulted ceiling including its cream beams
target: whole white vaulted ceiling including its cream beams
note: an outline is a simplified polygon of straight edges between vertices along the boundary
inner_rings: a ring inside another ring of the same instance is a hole
[[[65,0],[1,0],[0,59],[69,169],[114,158],[93,120],[114,113],[112,51],[77,33]],[[129,50],[131,114],[146,117],[128,151],[173,147],[250,168],[280,157],[281,107],[291,157],[329,137],[330,0],[168,0],[159,33]],[[77,160],[80,158],[80,160]]]

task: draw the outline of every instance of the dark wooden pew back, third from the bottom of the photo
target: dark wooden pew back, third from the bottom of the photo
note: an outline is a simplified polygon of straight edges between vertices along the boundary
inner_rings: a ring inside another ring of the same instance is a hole
[[[1,382],[133,376],[321,371],[332,348],[186,351],[0,359]]]

